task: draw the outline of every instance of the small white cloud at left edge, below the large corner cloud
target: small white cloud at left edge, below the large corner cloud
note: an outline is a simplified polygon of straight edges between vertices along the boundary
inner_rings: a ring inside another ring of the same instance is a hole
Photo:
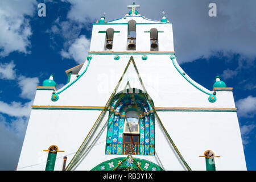
[[[15,64],[13,61],[10,63],[0,64],[0,78],[7,80],[14,80],[16,73],[14,70]]]

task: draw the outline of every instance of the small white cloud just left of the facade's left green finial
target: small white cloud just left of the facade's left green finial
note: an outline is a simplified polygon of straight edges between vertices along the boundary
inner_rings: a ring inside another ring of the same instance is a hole
[[[19,77],[19,88],[22,90],[20,97],[33,100],[35,97],[36,86],[39,84],[38,77],[28,78],[24,76]]]

